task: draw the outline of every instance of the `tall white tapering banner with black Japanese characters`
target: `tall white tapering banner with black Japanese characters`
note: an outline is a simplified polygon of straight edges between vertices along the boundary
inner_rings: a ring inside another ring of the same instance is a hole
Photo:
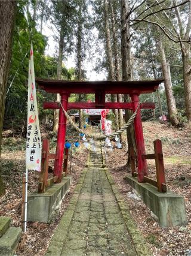
[[[26,140],[26,168],[28,170],[41,171],[41,133],[39,129],[38,107],[36,101],[35,70],[32,43],[29,59]]]

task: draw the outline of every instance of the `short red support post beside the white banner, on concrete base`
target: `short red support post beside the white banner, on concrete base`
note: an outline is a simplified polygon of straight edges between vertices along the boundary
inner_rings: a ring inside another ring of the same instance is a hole
[[[39,176],[38,192],[44,193],[46,191],[47,179],[48,179],[48,155],[49,155],[49,141],[44,138],[42,141],[42,162],[41,172]]]

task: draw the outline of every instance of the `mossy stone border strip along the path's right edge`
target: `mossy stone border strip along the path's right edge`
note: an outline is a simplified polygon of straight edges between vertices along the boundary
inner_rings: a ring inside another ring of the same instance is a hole
[[[128,204],[125,202],[123,195],[119,192],[118,186],[115,184],[112,175],[108,168],[104,168],[107,179],[112,186],[113,194],[115,195],[116,201],[118,202],[119,209],[124,219],[126,228],[131,236],[131,240],[135,247],[137,255],[151,256],[153,255],[150,251],[150,248],[146,245],[146,240],[144,239],[143,234],[138,230],[137,225],[135,224],[132,216],[130,215],[130,209]]]

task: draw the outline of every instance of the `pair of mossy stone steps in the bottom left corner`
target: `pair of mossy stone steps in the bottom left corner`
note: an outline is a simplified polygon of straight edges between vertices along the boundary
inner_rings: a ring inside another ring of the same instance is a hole
[[[0,256],[14,255],[21,237],[21,228],[10,227],[10,224],[10,217],[0,217]]]

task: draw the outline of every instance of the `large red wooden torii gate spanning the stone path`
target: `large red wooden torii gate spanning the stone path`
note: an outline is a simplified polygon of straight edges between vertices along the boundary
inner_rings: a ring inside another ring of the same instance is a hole
[[[131,109],[133,112],[137,109],[140,94],[149,94],[158,89],[160,83],[164,80],[147,81],[65,81],[53,79],[36,79],[40,88],[46,92],[60,94],[61,104],[64,110],[69,109]],[[70,94],[95,94],[94,103],[68,103]],[[131,103],[106,103],[106,94],[129,94]],[[140,103],[137,115],[134,119],[135,139],[137,144],[138,160],[138,182],[143,182],[144,176],[147,176],[147,161],[145,155],[143,127],[141,122],[141,109],[154,109],[154,103]],[[66,116],[58,103],[44,103],[44,109],[59,109],[59,124],[57,134],[56,159],[54,162],[54,176],[57,176],[57,182],[61,182],[63,152],[66,135]]]

